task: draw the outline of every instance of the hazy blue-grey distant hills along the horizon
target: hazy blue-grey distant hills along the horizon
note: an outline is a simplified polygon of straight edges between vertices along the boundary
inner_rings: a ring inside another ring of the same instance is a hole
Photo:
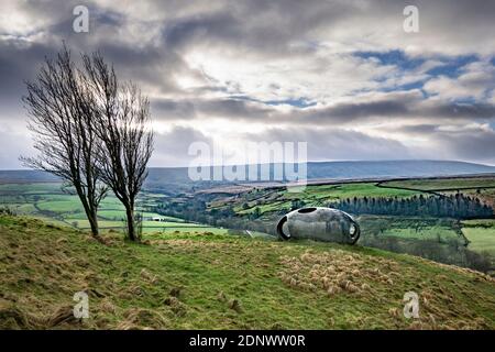
[[[280,164],[271,165],[270,180],[274,180],[274,165]],[[495,166],[450,161],[310,162],[308,163],[307,169],[308,179],[363,179],[495,174]],[[211,172],[213,172],[212,167]],[[0,170],[0,183],[56,180],[56,177],[37,170]],[[190,189],[208,188],[212,185],[218,186],[219,184],[228,183],[193,182],[188,177],[187,167],[151,167],[145,187],[147,189],[161,189],[162,191],[177,194]]]

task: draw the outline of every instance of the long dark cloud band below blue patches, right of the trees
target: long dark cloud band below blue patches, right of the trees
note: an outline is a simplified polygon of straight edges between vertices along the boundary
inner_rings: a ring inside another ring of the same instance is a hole
[[[246,100],[160,100],[154,103],[157,119],[174,121],[180,119],[229,118],[232,121],[251,121],[278,124],[336,125],[353,124],[358,121],[397,118],[404,120],[429,119],[432,121],[452,120],[495,120],[495,106],[492,103],[422,103],[409,96],[369,102],[338,103],[323,108],[296,109],[280,112],[276,108]]]

